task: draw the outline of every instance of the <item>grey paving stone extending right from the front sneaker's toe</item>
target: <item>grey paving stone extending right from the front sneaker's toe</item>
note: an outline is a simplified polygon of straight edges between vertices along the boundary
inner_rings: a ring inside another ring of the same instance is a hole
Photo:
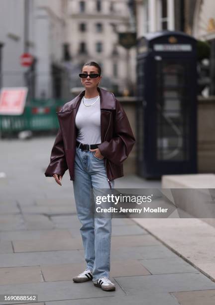
[[[115,278],[128,295],[215,289],[215,283],[200,273],[174,273]]]

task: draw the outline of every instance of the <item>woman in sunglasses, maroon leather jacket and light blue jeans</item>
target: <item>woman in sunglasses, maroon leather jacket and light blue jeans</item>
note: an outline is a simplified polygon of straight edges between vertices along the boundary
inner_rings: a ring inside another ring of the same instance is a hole
[[[123,176],[122,162],[135,139],[127,116],[113,93],[98,85],[101,67],[87,62],[79,74],[85,87],[57,113],[60,128],[51,152],[46,176],[60,185],[69,169],[87,268],[76,283],[93,280],[103,290],[115,290],[109,280],[111,218],[92,217],[92,189],[110,189]]]

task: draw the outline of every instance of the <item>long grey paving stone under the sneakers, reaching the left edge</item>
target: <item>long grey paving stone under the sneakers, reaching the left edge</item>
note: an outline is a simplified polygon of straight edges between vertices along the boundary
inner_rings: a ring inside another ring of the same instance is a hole
[[[116,291],[103,291],[101,288],[95,287],[92,282],[74,283],[73,281],[58,281],[3,285],[0,286],[0,294],[21,295],[30,292],[32,295],[38,295],[38,302],[124,296],[125,293],[114,279],[111,279],[111,281],[116,285]],[[79,302],[82,301],[79,300]]]

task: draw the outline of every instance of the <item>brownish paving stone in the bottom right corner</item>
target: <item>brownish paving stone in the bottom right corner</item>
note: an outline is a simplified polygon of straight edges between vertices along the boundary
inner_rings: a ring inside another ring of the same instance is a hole
[[[215,305],[215,290],[173,293],[181,305]]]

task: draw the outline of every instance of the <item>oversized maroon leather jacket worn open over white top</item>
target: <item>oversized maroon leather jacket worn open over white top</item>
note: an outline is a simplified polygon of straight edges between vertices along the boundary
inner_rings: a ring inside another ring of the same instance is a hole
[[[128,157],[135,143],[127,116],[113,95],[99,88],[101,101],[101,140],[98,148],[104,155],[108,180],[123,176],[122,162]],[[85,90],[57,112],[60,128],[51,151],[46,177],[57,173],[61,176],[69,169],[70,180],[75,180],[74,161],[76,153],[75,117]],[[89,143],[90,144],[90,143]],[[110,183],[109,183],[110,184]]]

